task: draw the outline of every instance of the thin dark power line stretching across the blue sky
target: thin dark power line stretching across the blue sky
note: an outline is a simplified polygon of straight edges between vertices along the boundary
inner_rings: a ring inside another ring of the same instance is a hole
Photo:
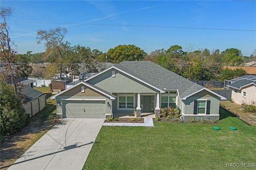
[[[76,24],[76,25],[94,25],[94,26],[128,26],[128,27],[151,27],[151,28],[184,28],[184,29],[199,29],[199,30],[256,31],[256,30],[222,29],[222,28],[171,27],[171,26],[142,26],[142,25],[121,25],[121,24],[86,24],[86,23],[69,23],[69,22],[33,22],[33,21],[9,21],[9,22],[41,23],[41,24]]]

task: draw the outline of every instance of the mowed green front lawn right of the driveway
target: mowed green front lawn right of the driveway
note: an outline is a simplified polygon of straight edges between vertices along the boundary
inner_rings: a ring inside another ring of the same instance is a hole
[[[83,169],[224,169],[256,163],[256,127],[224,109],[220,123],[155,122],[154,127],[108,127],[98,134]],[[213,130],[218,126],[221,130]],[[230,130],[234,126],[238,130]]]

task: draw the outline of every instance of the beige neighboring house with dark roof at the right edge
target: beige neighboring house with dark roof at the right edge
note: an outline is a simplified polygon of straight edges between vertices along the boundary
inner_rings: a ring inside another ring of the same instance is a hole
[[[244,75],[229,81],[227,87],[232,90],[231,98],[235,103],[256,101],[256,75]]]

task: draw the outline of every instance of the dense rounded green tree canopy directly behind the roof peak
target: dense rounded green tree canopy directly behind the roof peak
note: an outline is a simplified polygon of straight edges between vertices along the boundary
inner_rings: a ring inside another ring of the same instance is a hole
[[[120,63],[121,61],[135,61],[141,60],[146,56],[147,53],[140,47],[135,45],[118,45],[110,48],[107,52],[108,61],[112,63]]]

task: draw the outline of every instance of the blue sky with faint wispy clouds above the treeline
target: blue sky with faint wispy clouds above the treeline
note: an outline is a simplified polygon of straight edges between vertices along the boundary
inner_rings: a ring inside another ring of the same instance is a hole
[[[120,44],[134,44],[146,53],[176,44],[183,49],[192,44],[194,50],[238,48],[247,56],[256,49],[256,1],[1,0],[1,6],[14,8],[8,24],[20,54],[44,52],[44,45],[36,43],[36,32],[58,26],[68,29],[65,41],[71,45],[102,52]]]

